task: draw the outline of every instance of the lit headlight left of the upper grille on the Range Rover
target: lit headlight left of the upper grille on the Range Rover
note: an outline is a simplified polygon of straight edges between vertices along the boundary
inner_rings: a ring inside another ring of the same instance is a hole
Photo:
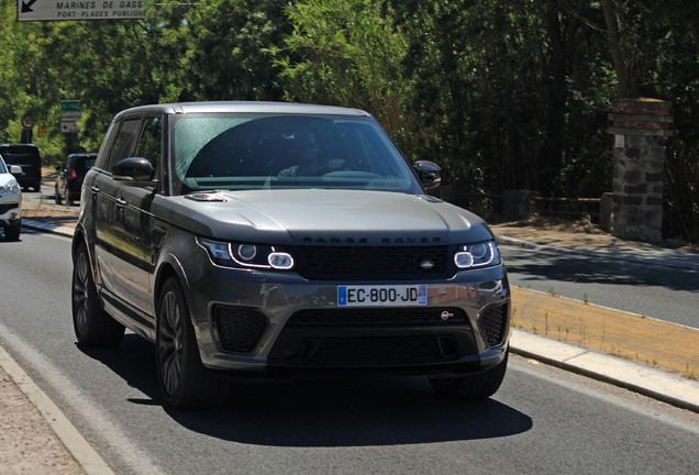
[[[203,238],[198,238],[197,242],[207,250],[214,264],[224,267],[289,270],[295,264],[291,254],[277,246],[231,243]]]

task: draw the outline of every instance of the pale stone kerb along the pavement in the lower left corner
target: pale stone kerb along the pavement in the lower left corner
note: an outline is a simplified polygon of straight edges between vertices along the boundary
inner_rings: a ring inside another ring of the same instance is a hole
[[[114,475],[102,457],[85,440],[82,434],[64,416],[60,409],[29,377],[24,369],[0,346],[0,365],[14,385],[26,396],[38,413],[46,420],[70,455],[88,475]]]

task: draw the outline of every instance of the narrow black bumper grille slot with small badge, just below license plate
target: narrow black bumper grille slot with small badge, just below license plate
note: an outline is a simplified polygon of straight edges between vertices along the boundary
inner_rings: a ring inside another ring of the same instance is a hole
[[[430,325],[466,322],[459,308],[381,308],[381,309],[325,309],[301,310],[289,319],[287,328],[299,327],[395,327]]]

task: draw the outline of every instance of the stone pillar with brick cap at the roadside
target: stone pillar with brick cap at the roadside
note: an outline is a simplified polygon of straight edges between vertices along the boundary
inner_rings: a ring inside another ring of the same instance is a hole
[[[609,114],[614,134],[612,235],[657,242],[663,227],[665,142],[673,135],[672,102],[619,99]]]

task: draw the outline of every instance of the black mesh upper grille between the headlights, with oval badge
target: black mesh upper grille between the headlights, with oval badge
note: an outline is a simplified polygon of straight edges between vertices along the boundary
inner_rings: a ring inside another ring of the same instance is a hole
[[[441,279],[450,274],[450,248],[435,246],[298,246],[299,274],[311,280],[411,278]],[[430,261],[432,266],[421,264]]]

